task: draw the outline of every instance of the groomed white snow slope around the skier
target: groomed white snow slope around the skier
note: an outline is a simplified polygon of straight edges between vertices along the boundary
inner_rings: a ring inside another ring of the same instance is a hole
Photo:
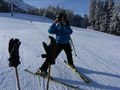
[[[8,66],[8,42],[19,38],[20,61],[18,66],[21,90],[45,90],[46,80],[24,71],[36,72],[44,62],[40,57],[45,53],[42,42],[49,43],[48,28],[52,21],[45,17],[24,14],[0,13],[0,90],[17,90],[14,68]],[[120,90],[120,37],[93,30],[72,27],[71,35],[78,57],[74,55],[74,64],[86,75],[91,83],[73,73],[63,62],[65,53],[61,52],[52,66],[51,75],[72,85],[77,90]],[[63,58],[63,59],[61,59]],[[69,87],[50,82],[49,90],[73,90]]]

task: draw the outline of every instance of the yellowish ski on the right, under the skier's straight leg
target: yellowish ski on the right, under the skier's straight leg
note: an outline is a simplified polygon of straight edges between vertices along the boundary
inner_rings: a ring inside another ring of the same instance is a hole
[[[68,64],[68,62],[67,62],[66,60],[64,60],[64,62],[69,66],[69,64]],[[80,72],[77,70],[77,68],[72,68],[72,67],[70,67],[70,66],[69,66],[69,68],[70,68],[73,72],[75,72],[77,75],[79,75],[84,82],[90,83],[90,80],[89,80],[85,75],[83,75],[82,73],[80,73]]]

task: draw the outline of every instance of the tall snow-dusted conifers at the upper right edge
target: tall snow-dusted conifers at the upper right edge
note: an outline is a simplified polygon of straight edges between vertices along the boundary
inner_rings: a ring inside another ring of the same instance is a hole
[[[120,35],[120,2],[91,0],[89,20],[95,30]]]

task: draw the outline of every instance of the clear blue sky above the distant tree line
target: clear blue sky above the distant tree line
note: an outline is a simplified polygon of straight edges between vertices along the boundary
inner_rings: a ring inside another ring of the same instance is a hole
[[[89,12],[89,0],[24,0],[25,2],[41,8],[49,5],[73,10],[75,14],[84,15]]]

